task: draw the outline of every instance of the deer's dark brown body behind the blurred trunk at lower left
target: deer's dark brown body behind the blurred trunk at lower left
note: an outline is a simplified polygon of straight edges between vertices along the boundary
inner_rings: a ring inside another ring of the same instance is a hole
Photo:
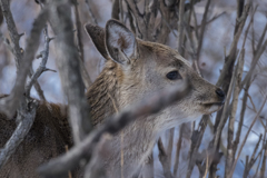
[[[66,152],[66,146],[72,146],[63,112],[66,111],[61,111],[60,106],[55,103],[41,103],[38,107],[32,128],[0,170],[0,177],[36,178],[38,175],[34,170],[40,164]],[[0,113],[0,148],[11,137],[16,127],[14,119],[7,120],[6,116]]]

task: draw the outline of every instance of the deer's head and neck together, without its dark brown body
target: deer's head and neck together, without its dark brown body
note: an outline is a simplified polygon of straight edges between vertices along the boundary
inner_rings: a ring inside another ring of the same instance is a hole
[[[224,91],[201,78],[176,50],[142,41],[116,20],[109,20],[105,29],[92,24],[85,27],[98,51],[107,59],[102,72],[87,93],[95,125],[115,113],[113,105],[120,110],[185,79],[192,87],[182,100],[157,115],[136,120],[123,130],[123,169],[128,176],[146,159],[160,132],[217,111],[224,105]],[[108,96],[111,96],[112,103]],[[119,135],[109,144],[112,151],[105,158],[106,167],[111,177],[118,177]]]

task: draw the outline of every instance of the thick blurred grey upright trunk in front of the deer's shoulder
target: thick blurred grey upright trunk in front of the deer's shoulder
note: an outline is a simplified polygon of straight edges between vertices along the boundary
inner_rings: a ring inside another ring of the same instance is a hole
[[[88,120],[88,103],[80,75],[78,50],[73,41],[71,9],[68,3],[51,2],[50,19],[57,34],[57,65],[65,93],[68,97],[68,116],[75,144],[81,141],[91,129]],[[60,24],[60,26],[57,26]]]

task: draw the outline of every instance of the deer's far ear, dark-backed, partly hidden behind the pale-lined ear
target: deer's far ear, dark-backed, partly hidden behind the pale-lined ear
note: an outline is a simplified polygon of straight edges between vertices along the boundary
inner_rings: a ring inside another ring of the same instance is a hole
[[[108,59],[108,52],[105,48],[105,29],[90,23],[85,24],[86,32],[91,38],[92,43],[103,58]]]

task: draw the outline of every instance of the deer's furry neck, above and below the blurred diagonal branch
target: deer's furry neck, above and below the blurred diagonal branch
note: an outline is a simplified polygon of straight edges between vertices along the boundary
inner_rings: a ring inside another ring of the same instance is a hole
[[[105,121],[105,118],[141,98],[137,83],[132,80],[126,83],[128,80],[119,69],[119,65],[107,61],[103,71],[87,93],[93,126],[98,126]],[[152,117],[139,118],[108,141],[112,147],[110,156],[105,158],[108,170],[118,174],[119,170],[116,169],[120,167],[121,150],[126,160],[123,169],[126,172],[135,170],[137,165],[140,165],[151,152],[157,137],[152,131],[154,127]]]

